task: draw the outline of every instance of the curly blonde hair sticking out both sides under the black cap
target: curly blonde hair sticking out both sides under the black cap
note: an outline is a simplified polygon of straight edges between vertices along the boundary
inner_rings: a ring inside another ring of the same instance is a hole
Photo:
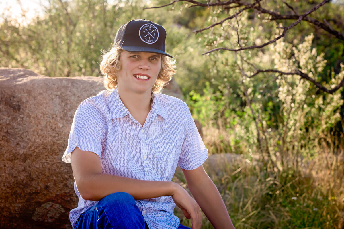
[[[118,45],[114,45],[107,53],[106,51],[103,52],[100,62],[100,71],[104,75],[104,86],[108,91],[113,91],[118,86],[117,72],[121,69],[119,58],[122,50],[123,49]],[[175,60],[173,58],[161,55],[161,69],[152,87],[153,92],[162,91],[165,84],[169,82],[175,74],[175,67]]]

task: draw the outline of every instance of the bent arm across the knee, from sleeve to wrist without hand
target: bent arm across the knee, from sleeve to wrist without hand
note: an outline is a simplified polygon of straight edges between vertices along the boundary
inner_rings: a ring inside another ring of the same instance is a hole
[[[171,195],[175,188],[173,182],[142,181],[102,174],[99,156],[78,147],[71,153],[71,162],[78,191],[87,200],[99,201],[114,192],[127,192],[135,199],[147,199]]]

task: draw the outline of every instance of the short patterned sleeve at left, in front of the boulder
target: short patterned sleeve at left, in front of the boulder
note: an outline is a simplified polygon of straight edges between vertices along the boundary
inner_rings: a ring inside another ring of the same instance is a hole
[[[71,163],[70,153],[75,147],[96,153],[99,157],[105,142],[107,118],[101,107],[91,98],[83,101],[77,108],[69,133],[68,146],[62,160]]]

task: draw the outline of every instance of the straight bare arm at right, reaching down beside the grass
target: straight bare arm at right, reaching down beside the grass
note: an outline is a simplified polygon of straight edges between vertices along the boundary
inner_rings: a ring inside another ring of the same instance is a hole
[[[214,228],[234,229],[222,197],[203,166],[182,170],[192,195]]]

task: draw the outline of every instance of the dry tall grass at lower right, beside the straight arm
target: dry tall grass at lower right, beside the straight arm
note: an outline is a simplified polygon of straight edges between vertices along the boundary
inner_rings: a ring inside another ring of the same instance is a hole
[[[230,142],[227,131],[217,130],[214,134],[214,128],[204,127],[204,135],[208,148],[227,150],[219,144]],[[255,153],[258,157],[247,152],[242,160],[227,164],[219,172],[206,168],[237,229],[343,228],[343,142],[334,140],[337,138],[333,133],[322,137],[332,141],[320,140],[314,148],[315,157],[290,155],[281,168],[272,167],[268,160],[262,163],[259,152]],[[295,164],[295,160],[299,163]],[[176,176],[185,183],[182,174]],[[184,226],[192,227],[191,220],[183,218],[182,213],[177,211],[176,215]],[[205,216],[202,228],[213,228]]]

